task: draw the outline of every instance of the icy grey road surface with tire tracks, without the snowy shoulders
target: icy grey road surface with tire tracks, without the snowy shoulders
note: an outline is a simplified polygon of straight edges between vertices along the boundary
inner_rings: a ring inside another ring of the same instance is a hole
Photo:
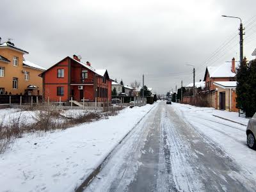
[[[85,191],[256,191],[256,182],[172,105],[160,102]]]

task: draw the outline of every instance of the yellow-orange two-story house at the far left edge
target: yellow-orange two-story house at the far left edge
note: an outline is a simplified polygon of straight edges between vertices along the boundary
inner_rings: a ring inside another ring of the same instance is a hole
[[[24,60],[27,51],[12,42],[0,42],[0,94],[42,95],[44,67]]]

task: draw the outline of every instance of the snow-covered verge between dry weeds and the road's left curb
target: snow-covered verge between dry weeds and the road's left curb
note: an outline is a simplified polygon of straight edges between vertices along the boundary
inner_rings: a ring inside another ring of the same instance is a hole
[[[108,119],[18,139],[0,155],[0,190],[74,191],[154,105],[125,108]],[[8,111],[0,111],[0,117]]]

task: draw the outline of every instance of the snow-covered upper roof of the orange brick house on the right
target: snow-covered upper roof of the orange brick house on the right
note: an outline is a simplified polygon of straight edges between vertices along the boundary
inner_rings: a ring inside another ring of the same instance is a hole
[[[218,67],[207,67],[205,70],[204,81],[206,80],[207,72],[209,72],[209,77],[235,77],[236,73],[231,71],[231,66],[232,63],[227,62]]]

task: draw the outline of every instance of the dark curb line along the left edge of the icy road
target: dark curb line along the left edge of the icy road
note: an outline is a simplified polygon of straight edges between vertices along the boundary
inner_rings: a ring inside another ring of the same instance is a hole
[[[95,170],[93,170],[92,173],[90,173],[90,175],[82,182],[82,184],[80,184],[80,186],[78,186],[74,191],[75,192],[83,192],[84,191],[84,187],[87,187],[90,182],[93,180],[93,178],[100,172],[101,168],[102,168],[102,164],[106,161],[106,159],[108,159],[108,157],[111,155],[111,153],[115,150],[115,148],[120,145],[120,143],[122,143],[122,141],[124,141],[124,139],[129,135],[129,133],[138,125],[140,124],[141,120],[143,120],[143,118],[145,118],[146,115],[148,115],[148,113],[154,109],[156,106],[153,106],[145,115],[143,115],[141,117],[141,119],[132,127],[132,129],[127,132],[127,134],[125,134],[125,136],[115,145],[115,147],[112,148],[111,152],[109,152],[109,154],[104,158],[104,160],[99,164],[99,166],[97,166],[97,168],[95,168]]]

